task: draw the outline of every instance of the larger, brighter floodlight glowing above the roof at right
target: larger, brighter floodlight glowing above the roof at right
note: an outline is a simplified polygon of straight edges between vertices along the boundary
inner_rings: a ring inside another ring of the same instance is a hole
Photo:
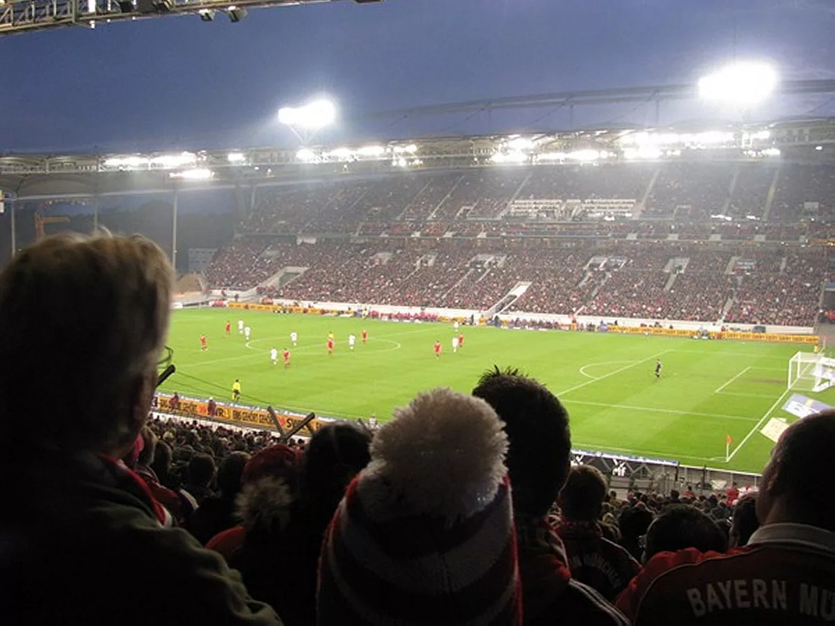
[[[771,95],[777,86],[777,72],[767,63],[747,61],[699,80],[699,95],[707,100],[737,104],[757,104]]]

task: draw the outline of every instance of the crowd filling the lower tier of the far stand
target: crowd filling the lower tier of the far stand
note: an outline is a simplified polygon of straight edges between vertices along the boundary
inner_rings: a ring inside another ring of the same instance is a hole
[[[563,247],[449,238],[300,245],[240,239],[220,252],[207,279],[215,288],[248,289],[286,267],[303,271],[261,288],[262,295],[706,322],[726,314],[724,320],[733,323],[781,326],[811,325],[827,280],[819,246],[587,239]],[[523,283],[524,293],[509,297]]]

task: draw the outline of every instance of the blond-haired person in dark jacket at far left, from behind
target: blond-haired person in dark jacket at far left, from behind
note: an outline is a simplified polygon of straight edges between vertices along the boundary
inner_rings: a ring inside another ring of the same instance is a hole
[[[117,461],[148,418],[172,279],[157,245],[110,235],[47,238],[0,274],[8,623],[280,623]]]

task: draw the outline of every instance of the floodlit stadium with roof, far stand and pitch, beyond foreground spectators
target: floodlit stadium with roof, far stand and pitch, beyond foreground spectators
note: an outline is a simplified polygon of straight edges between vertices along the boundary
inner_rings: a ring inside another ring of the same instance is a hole
[[[18,241],[105,226],[170,250],[183,308],[164,390],[203,411],[239,378],[247,406],[385,421],[426,386],[519,366],[562,390],[579,455],[671,477],[667,463],[756,472],[772,420],[797,418],[792,389],[814,386],[812,366],[787,377],[797,351],[825,347],[832,137],[816,119],[0,167]],[[239,319],[249,345],[224,336]],[[370,342],[347,354],[363,327]],[[276,372],[291,331],[291,371]]]

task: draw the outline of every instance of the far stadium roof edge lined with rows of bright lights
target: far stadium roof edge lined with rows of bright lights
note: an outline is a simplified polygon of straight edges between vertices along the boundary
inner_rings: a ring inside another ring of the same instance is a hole
[[[823,149],[827,146],[827,149]],[[603,164],[622,160],[832,159],[835,118],[770,124],[689,122],[664,128],[434,137],[302,149],[146,154],[0,155],[0,189],[18,199],[170,193],[280,185],[393,171],[490,164]]]

